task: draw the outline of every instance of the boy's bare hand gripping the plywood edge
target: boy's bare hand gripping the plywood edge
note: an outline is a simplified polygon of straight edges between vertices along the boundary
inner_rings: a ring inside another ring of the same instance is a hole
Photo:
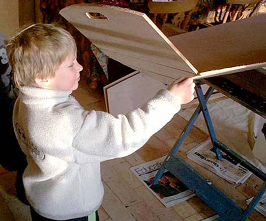
[[[187,104],[194,99],[195,83],[191,78],[179,78],[174,83],[170,84],[167,90],[175,95],[180,104]]]

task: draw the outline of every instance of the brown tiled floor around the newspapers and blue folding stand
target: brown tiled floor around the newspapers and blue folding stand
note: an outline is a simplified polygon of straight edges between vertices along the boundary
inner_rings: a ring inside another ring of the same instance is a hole
[[[80,87],[74,95],[86,109],[105,110],[101,90],[90,89],[84,80],[80,82]],[[201,221],[214,214],[198,197],[193,197],[170,208],[164,207],[129,170],[131,166],[167,154],[185,124],[186,121],[176,115],[137,152],[125,158],[102,163],[105,197],[99,209],[101,221]],[[178,154],[185,158],[187,150],[206,138],[206,134],[194,127]],[[190,164],[205,174],[207,179],[227,195],[234,198],[242,208],[246,206],[244,200],[254,195],[262,185],[262,182],[254,175],[243,185],[229,184],[201,166],[192,162]],[[16,198],[14,182],[15,173],[0,167],[0,221],[30,221],[29,207]],[[266,218],[254,211],[249,220],[266,221]]]

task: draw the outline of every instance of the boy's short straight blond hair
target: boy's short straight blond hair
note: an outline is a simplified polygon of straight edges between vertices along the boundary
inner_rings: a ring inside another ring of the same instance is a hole
[[[34,86],[36,77],[53,78],[70,53],[76,53],[74,38],[52,24],[34,24],[6,41],[7,55],[16,86]]]

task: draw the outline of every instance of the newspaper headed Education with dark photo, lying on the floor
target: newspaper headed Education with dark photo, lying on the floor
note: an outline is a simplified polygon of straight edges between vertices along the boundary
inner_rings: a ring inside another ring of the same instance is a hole
[[[164,171],[158,184],[152,185],[152,181],[161,168],[165,157],[166,156],[138,166],[133,166],[130,170],[165,207],[170,207],[195,196],[195,193],[189,190],[168,170]]]

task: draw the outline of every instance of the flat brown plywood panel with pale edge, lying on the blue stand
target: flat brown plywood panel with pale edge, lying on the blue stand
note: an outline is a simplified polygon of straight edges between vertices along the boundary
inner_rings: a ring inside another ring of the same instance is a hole
[[[180,34],[170,40],[199,74],[213,75],[266,66],[265,33],[263,14]]]

